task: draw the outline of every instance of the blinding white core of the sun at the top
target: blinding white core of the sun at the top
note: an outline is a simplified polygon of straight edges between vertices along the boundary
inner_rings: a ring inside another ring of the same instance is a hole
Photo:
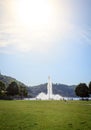
[[[26,27],[41,28],[50,25],[53,16],[53,6],[48,0],[16,0],[13,3],[16,22]]]

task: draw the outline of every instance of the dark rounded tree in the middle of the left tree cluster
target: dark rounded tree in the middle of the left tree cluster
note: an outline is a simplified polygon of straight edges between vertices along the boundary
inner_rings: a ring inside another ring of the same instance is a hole
[[[8,96],[15,96],[19,94],[19,87],[15,81],[11,82],[6,89]]]

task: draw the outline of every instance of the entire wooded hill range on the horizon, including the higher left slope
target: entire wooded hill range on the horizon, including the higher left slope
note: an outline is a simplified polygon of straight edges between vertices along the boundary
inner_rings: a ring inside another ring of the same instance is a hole
[[[47,93],[47,83],[40,84],[37,86],[30,86],[23,84],[22,82],[16,80],[15,78],[12,78],[10,76],[5,76],[0,74],[0,81],[3,81],[6,85],[6,87],[12,82],[15,81],[17,84],[22,85],[24,87],[27,87],[28,95],[31,97],[36,97],[40,92]],[[75,85],[69,86],[64,84],[54,84],[53,83],[53,93],[54,94],[60,94],[64,97],[75,97]]]

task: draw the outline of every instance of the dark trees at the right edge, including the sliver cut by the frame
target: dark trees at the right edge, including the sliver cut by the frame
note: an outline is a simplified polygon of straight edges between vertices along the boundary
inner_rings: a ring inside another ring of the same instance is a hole
[[[90,97],[91,95],[91,81],[89,85],[86,83],[80,83],[76,86],[75,93],[78,97],[81,97],[82,99]]]

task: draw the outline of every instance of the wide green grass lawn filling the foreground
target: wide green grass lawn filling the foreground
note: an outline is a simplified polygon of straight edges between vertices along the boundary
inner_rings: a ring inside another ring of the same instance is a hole
[[[0,101],[0,130],[91,130],[91,101]]]

